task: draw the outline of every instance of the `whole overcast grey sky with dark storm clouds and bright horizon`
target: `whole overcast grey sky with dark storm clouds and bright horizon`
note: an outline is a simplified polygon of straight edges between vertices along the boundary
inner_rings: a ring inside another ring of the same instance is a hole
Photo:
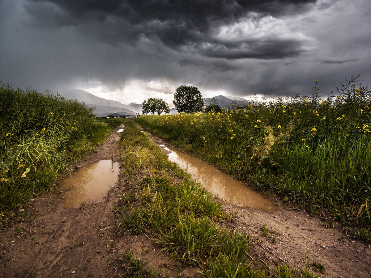
[[[0,79],[13,87],[171,104],[371,85],[370,0],[0,0]]]

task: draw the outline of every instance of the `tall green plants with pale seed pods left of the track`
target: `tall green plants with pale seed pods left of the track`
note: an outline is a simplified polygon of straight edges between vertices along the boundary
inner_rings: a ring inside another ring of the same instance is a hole
[[[1,84],[0,99],[3,217],[49,189],[67,163],[93,152],[111,129],[94,122],[92,108],[50,92]]]

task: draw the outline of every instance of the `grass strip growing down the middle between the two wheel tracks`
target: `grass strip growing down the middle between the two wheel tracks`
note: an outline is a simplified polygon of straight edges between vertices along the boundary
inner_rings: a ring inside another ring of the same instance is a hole
[[[151,234],[165,254],[205,277],[264,276],[250,267],[249,237],[221,228],[230,215],[131,120],[120,144],[129,185],[116,207],[119,231]]]

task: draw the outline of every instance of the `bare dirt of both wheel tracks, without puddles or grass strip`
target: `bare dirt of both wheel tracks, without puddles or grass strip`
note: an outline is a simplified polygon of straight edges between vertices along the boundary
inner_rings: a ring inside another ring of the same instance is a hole
[[[158,145],[164,143],[150,137]],[[118,141],[119,133],[112,132],[98,152],[73,166],[81,168],[105,159],[120,162]],[[117,277],[125,273],[119,258],[129,247],[145,257],[148,267],[155,267],[159,276],[197,274],[162,255],[150,235],[116,234],[115,201],[126,189],[125,176],[120,174],[101,200],[83,203],[77,209],[63,207],[57,193],[61,182],[33,199],[20,212],[24,216],[17,224],[10,223],[1,231],[1,277]],[[255,242],[249,255],[256,268],[280,263],[303,269],[306,252],[309,265],[317,261],[325,266],[324,273],[315,272],[321,276],[370,277],[370,246],[348,239],[340,229],[326,228],[316,216],[285,205],[277,206],[275,212],[229,203],[224,203],[223,209],[235,216],[227,225],[247,232]],[[267,236],[263,236],[262,226]]]

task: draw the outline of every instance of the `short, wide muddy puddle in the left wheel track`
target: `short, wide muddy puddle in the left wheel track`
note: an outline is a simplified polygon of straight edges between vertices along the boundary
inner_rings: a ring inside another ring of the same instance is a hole
[[[98,201],[115,185],[119,173],[118,162],[101,160],[79,169],[72,178],[66,178],[60,188],[65,208],[77,208],[82,203]]]

